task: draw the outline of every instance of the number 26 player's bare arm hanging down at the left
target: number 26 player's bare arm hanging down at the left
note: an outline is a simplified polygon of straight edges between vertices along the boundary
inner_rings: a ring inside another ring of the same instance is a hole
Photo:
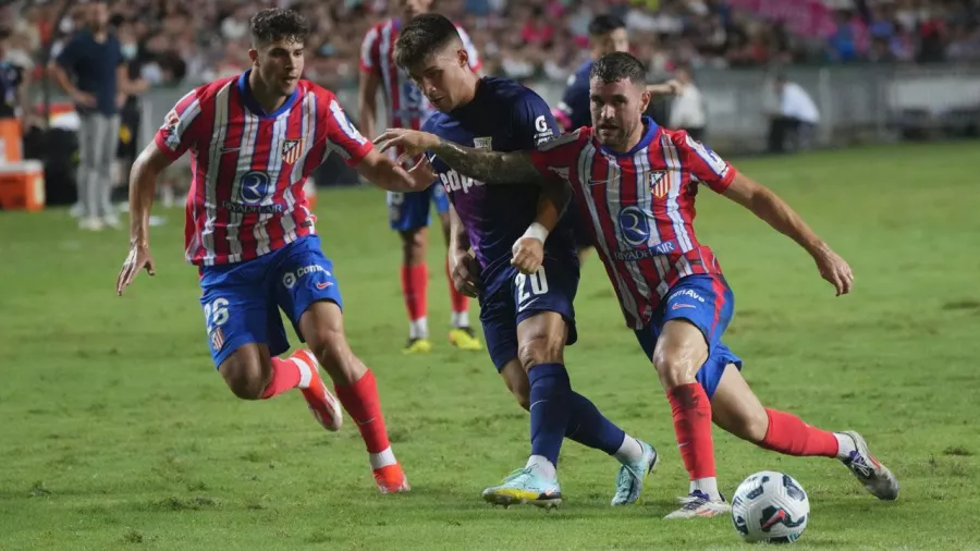
[[[130,172],[130,253],[115,279],[115,293],[120,296],[139,270],[146,268],[150,276],[156,273],[149,250],[150,207],[157,193],[157,179],[171,162],[160,146],[150,142],[133,163]]]

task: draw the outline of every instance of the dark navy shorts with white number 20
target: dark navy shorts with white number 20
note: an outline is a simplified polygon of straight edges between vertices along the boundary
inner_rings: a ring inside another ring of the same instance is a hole
[[[485,281],[485,289],[497,289],[480,295],[480,323],[490,359],[498,371],[517,357],[517,326],[542,311],[554,311],[568,326],[566,345],[575,344],[575,293],[578,291],[578,259],[558,260],[544,257],[534,276],[525,276],[507,266],[495,281]]]

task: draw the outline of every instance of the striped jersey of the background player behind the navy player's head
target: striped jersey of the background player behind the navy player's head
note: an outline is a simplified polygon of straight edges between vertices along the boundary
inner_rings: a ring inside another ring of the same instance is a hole
[[[394,62],[394,45],[401,28],[401,20],[395,17],[379,23],[367,32],[360,45],[360,70],[378,74],[381,77],[388,125],[419,130],[426,119],[432,114],[433,108],[428,98],[408,78],[408,74]],[[482,63],[469,35],[458,25],[456,30],[469,53],[470,69],[479,71]],[[375,132],[375,128],[362,130]],[[401,155],[401,151],[397,155]]]

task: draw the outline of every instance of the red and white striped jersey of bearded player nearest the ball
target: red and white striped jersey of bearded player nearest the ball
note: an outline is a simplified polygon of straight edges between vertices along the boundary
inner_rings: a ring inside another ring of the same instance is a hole
[[[626,322],[641,329],[681,278],[721,273],[694,231],[698,184],[724,193],[735,168],[684,131],[644,118],[647,132],[616,154],[583,127],[539,146],[531,160],[546,175],[567,181],[578,217],[616,291]]]

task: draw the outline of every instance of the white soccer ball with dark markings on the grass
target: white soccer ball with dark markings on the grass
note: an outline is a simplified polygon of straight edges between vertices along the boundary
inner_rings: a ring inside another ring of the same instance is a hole
[[[807,492],[793,477],[774,470],[746,478],[732,500],[732,524],[746,541],[796,541],[809,516]]]

